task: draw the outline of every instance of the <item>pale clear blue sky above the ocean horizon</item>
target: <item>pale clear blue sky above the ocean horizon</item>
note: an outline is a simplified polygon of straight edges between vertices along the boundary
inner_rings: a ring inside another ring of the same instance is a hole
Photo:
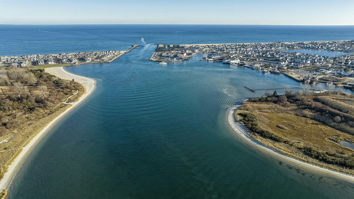
[[[0,24],[354,25],[354,0],[0,0]]]

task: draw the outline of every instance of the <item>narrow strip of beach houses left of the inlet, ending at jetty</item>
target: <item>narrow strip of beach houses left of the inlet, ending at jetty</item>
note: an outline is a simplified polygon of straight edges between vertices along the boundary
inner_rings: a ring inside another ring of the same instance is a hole
[[[60,54],[39,54],[21,56],[0,56],[1,66],[4,67],[29,67],[54,64],[80,64],[110,62],[124,54],[126,51],[101,51],[101,52],[78,52]]]

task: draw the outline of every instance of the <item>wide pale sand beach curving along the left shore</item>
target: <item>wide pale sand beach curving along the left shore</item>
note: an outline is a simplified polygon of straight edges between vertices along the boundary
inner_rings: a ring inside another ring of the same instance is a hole
[[[48,130],[50,130],[61,118],[63,118],[66,114],[68,114],[73,108],[75,108],[78,104],[84,101],[91,93],[96,89],[96,81],[91,78],[87,78],[84,76],[75,75],[67,72],[64,67],[53,67],[46,68],[45,71],[52,75],[55,75],[61,79],[75,79],[79,83],[83,84],[86,88],[86,93],[82,95],[77,102],[72,102],[71,107],[66,109],[63,113],[53,119],[47,126],[44,127],[36,136],[29,141],[29,143],[22,148],[22,151],[19,155],[13,160],[10,166],[8,166],[7,172],[4,174],[4,177],[0,181],[0,189],[8,189],[11,185],[13,178],[15,178],[17,171],[27,158],[27,156],[32,152],[34,147],[38,144],[38,142],[46,135]]]

